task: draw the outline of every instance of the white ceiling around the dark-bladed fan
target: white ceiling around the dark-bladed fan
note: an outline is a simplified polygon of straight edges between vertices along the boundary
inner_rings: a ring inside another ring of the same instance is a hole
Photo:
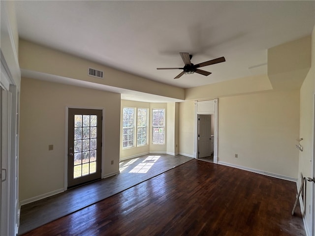
[[[312,33],[315,1],[16,1],[21,38],[191,88],[267,73],[267,49]],[[212,72],[173,78],[192,63]]]

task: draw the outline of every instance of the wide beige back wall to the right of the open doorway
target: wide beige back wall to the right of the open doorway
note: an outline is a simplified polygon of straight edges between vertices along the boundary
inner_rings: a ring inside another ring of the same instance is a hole
[[[298,177],[299,90],[220,98],[218,118],[219,162]]]

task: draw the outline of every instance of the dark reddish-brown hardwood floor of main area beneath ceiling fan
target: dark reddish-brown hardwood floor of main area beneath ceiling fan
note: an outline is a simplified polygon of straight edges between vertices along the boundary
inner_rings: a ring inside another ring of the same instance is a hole
[[[191,160],[25,236],[304,236],[296,184]]]

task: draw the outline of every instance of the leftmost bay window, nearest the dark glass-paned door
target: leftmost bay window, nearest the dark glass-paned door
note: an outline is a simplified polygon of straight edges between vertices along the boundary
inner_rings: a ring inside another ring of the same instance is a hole
[[[134,147],[134,108],[123,109],[123,148]]]

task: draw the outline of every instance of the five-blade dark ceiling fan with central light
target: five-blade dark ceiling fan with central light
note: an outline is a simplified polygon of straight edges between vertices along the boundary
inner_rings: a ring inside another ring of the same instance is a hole
[[[193,74],[194,72],[201,74],[201,75],[205,75],[208,76],[211,74],[211,72],[205,71],[205,70],[200,70],[197,69],[199,67],[202,66],[207,66],[207,65],[213,65],[216,63],[220,63],[220,62],[224,62],[225,58],[221,57],[221,58],[217,58],[217,59],[213,59],[213,60],[208,60],[205,62],[201,62],[199,64],[192,64],[190,62],[190,59],[192,58],[192,55],[189,55],[189,53],[179,53],[185,63],[184,67],[180,67],[180,68],[157,68],[157,70],[173,70],[173,69],[180,69],[183,70],[178,76],[176,76],[174,79],[178,79],[179,77],[181,77],[184,74]]]

